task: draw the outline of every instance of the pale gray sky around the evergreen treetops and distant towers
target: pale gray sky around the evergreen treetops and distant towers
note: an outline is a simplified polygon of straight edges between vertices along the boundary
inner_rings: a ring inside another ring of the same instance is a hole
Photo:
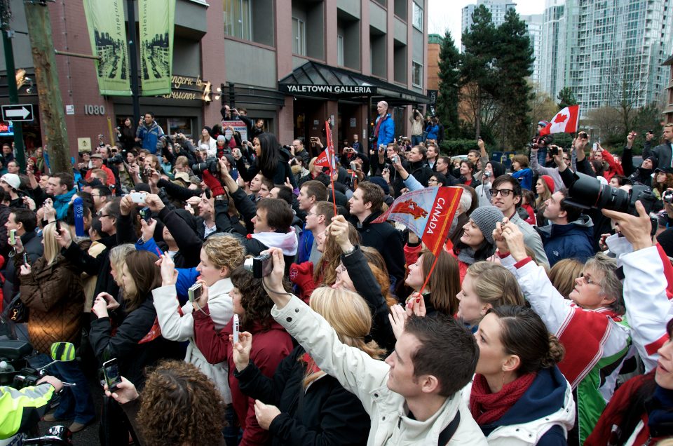
[[[460,48],[463,6],[476,3],[476,0],[428,0],[428,34],[444,35],[449,29]],[[541,0],[515,0],[515,3],[517,13],[521,15],[541,14],[545,8],[545,2]]]

